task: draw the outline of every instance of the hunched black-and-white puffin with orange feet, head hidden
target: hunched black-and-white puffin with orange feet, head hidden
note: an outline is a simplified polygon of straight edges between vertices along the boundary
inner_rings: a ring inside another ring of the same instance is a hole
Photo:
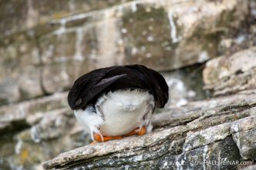
[[[68,103],[93,142],[152,131],[154,109],[169,98],[162,75],[144,65],[99,68],[77,78]]]

